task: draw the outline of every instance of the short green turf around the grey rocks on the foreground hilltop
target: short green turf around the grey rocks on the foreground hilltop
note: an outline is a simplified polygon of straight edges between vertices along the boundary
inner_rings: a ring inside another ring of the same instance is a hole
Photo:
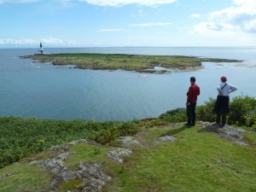
[[[157,137],[165,135],[172,135],[176,140],[155,143]],[[197,127],[154,127],[143,132],[140,141],[146,145],[132,147],[133,154],[124,164],[108,158],[111,146],[79,143],[70,148],[75,154],[67,158],[65,166],[73,170],[80,161],[101,162],[104,171],[113,178],[103,191],[253,191],[256,189],[256,134],[247,132],[245,137],[250,146],[230,143]],[[44,159],[44,155],[47,153],[38,156]],[[34,169],[40,171],[24,163],[1,169],[0,176],[14,174],[0,178],[0,191],[44,191],[50,176],[42,174],[42,170],[38,174]],[[23,174],[19,182],[14,182]],[[28,186],[31,189],[26,189]],[[81,181],[74,180],[61,183],[59,191],[79,187],[83,187]]]

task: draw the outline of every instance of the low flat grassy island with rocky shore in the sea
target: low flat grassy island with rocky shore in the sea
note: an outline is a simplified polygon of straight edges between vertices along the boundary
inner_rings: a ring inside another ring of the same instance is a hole
[[[49,54],[26,55],[20,58],[32,58],[40,62],[52,62],[53,65],[74,65],[81,69],[101,69],[136,71],[139,73],[166,73],[167,69],[195,70],[202,62],[239,62],[237,60],[201,58],[180,55],[124,55],[124,54]],[[162,67],[155,70],[154,67]]]

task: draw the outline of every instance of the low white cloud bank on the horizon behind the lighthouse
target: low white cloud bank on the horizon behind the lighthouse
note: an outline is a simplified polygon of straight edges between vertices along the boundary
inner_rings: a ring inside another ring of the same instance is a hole
[[[0,38],[0,45],[15,45],[15,46],[34,46],[38,45],[39,42],[47,44],[47,46],[63,46],[63,45],[76,45],[76,42],[72,40],[64,40],[60,38]]]

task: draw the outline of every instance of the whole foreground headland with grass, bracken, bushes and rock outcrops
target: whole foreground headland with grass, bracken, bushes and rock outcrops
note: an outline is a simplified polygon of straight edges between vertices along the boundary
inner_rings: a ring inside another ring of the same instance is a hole
[[[214,118],[213,103],[199,120]],[[229,123],[250,131],[184,126],[184,108],[126,122],[0,117],[0,191],[253,191],[255,107],[253,97],[230,102]]]

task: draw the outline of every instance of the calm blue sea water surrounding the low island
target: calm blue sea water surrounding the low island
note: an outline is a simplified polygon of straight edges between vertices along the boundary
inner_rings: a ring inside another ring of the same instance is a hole
[[[0,116],[40,119],[127,120],[157,117],[184,107],[189,78],[201,86],[198,105],[216,97],[222,75],[238,90],[233,96],[256,96],[256,48],[78,48],[44,49],[48,53],[119,53],[193,55],[244,60],[204,63],[193,72],[143,74],[117,70],[70,69],[21,60],[37,49],[0,49]]]

